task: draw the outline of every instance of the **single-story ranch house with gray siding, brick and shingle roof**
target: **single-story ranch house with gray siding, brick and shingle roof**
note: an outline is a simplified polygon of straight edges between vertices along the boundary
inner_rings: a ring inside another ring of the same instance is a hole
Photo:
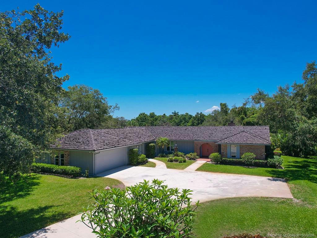
[[[128,150],[137,148],[146,154],[146,145],[158,137],[167,137],[169,146],[185,154],[196,152],[204,157],[219,152],[223,157],[240,158],[252,152],[256,159],[265,159],[271,144],[268,126],[145,126],[122,129],[81,129],[73,131],[50,145],[55,156],[44,155],[37,162],[77,166],[96,175],[108,169],[128,164]],[[156,148],[156,154],[162,149]]]

